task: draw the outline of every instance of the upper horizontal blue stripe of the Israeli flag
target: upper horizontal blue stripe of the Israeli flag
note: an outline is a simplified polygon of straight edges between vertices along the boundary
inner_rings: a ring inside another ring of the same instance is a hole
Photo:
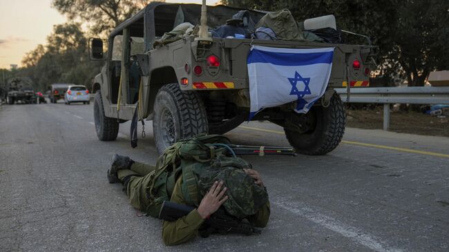
[[[267,52],[251,50],[247,64],[269,63],[279,66],[306,66],[312,64],[332,64],[334,52]]]

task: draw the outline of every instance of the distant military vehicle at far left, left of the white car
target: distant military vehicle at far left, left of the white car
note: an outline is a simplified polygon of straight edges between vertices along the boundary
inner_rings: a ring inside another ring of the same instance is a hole
[[[35,95],[32,81],[28,77],[9,78],[6,81],[6,91],[8,92],[8,104],[15,104],[15,102],[30,104],[32,103],[32,97]]]

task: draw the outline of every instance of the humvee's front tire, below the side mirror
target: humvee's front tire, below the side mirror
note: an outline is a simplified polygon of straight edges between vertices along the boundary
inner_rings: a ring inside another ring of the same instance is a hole
[[[102,141],[113,141],[117,139],[119,123],[116,118],[106,117],[104,115],[102,93],[99,90],[95,93],[95,99],[93,101],[93,117],[98,139]]]

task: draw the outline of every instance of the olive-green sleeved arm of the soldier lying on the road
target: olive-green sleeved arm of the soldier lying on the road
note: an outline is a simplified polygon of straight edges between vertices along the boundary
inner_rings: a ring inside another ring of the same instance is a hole
[[[182,179],[179,178],[171,195],[171,202],[186,204],[181,191]],[[162,240],[166,245],[176,245],[188,242],[198,235],[198,229],[204,222],[197,209],[193,209],[188,215],[180,217],[174,222],[164,221],[162,228]]]

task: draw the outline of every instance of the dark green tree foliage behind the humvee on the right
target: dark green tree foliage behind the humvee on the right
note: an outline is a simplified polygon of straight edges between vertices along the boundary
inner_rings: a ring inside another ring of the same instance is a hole
[[[379,70],[423,86],[432,70],[449,68],[449,1],[222,0],[239,8],[289,9],[298,21],[334,14],[343,30],[368,35],[379,46]],[[387,78],[390,79],[390,78]]]

